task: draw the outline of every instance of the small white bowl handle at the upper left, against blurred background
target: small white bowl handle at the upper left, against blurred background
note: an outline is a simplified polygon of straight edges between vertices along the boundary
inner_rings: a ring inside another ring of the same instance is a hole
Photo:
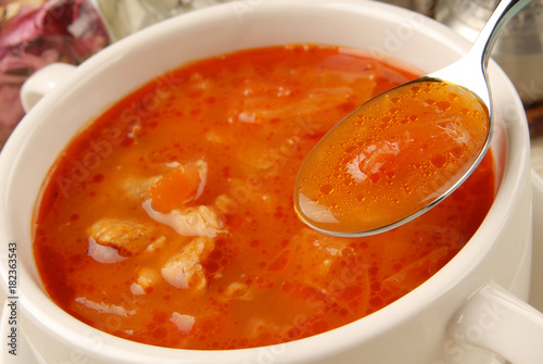
[[[76,66],[66,63],[51,63],[35,72],[21,88],[21,103],[28,112],[43,96],[70,76]]]

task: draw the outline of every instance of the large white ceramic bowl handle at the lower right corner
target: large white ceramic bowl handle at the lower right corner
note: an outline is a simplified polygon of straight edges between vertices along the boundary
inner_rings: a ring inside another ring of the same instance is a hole
[[[541,364],[543,313],[492,283],[462,307],[452,327],[458,343],[493,351],[513,364]]]

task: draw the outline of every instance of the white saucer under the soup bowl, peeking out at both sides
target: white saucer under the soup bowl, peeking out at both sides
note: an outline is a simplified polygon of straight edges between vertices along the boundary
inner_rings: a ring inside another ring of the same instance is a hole
[[[543,177],[532,171],[533,187],[533,261],[532,261],[532,285],[529,303],[543,312]],[[0,290],[0,302],[5,296]],[[7,302],[5,302],[7,303]],[[11,326],[8,324],[9,310],[5,303],[1,306],[0,337],[7,338]],[[26,340],[23,332],[18,331],[17,355],[9,354],[5,348],[0,351],[0,363],[3,364],[46,364],[47,362],[34,350],[30,342]],[[5,347],[5,344],[2,344]],[[491,363],[489,363],[491,364]]]

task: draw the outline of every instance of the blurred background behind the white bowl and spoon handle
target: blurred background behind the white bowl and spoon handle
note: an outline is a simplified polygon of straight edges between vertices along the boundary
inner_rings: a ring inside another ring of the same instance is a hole
[[[231,0],[0,0],[0,149],[24,116],[24,80],[52,62],[79,64],[151,24]],[[251,1],[251,4],[255,0]],[[473,40],[497,0],[375,0],[433,17]],[[525,104],[533,156],[543,173],[543,0],[500,35],[493,58]],[[540,163],[541,162],[541,163]]]

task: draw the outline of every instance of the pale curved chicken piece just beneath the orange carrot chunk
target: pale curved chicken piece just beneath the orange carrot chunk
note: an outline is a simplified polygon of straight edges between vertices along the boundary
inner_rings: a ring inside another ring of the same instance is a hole
[[[146,200],[142,204],[149,217],[172,227],[179,235],[215,238],[218,233],[225,231],[223,219],[214,208],[199,205],[185,210],[172,210],[163,214],[153,210],[151,204],[152,199]]]

